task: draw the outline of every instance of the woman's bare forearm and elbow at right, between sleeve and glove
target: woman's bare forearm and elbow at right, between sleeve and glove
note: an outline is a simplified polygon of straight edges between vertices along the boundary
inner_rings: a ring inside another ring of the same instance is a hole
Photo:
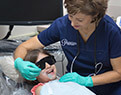
[[[103,85],[121,80],[121,57],[110,59],[113,70],[92,76],[93,85]]]

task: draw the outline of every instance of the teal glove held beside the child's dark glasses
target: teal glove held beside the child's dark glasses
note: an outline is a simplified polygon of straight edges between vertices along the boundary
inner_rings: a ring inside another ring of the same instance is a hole
[[[41,69],[38,68],[34,63],[23,61],[22,58],[17,58],[14,62],[14,66],[21,73],[22,77],[27,80],[36,80],[36,77],[41,71]]]

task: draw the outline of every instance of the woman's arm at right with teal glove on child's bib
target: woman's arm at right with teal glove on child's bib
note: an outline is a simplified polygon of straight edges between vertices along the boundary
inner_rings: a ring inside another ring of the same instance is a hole
[[[121,80],[121,57],[111,59],[111,65],[113,70],[108,71],[96,76],[81,76],[76,72],[67,73],[60,78],[60,82],[76,82],[80,85],[92,87],[96,85],[103,85]]]

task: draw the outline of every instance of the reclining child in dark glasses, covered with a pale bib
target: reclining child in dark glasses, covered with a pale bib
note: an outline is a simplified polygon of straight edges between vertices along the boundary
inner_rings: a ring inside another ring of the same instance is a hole
[[[26,61],[35,63],[42,69],[36,81],[27,83],[36,84],[31,92],[33,95],[95,95],[89,89],[74,82],[59,82],[56,77],[56,67],[54,56],[44,49],[29,51],[25,56]]]

